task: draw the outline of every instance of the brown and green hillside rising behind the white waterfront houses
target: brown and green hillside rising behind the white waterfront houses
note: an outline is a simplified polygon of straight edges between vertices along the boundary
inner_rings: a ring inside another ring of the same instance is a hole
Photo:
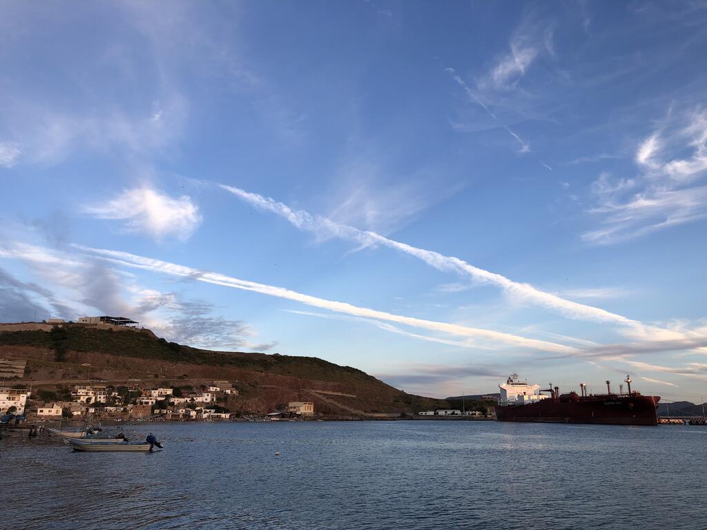
[[[240,390],[227,404],[234,412],[267,413],[288,401],[314,401],[318,411],[332,416],[409,414],[448,406],[319,358],[200,350],[157,338],[146,329],[0,326],[0,358],[28,361],[25,377],[16,383],[57,391],[88,379],[152,386],[228,379]]]

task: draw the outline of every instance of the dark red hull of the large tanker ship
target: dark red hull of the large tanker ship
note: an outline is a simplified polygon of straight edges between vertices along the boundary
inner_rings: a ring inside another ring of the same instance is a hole
[[[499,421],[540,423],[602,423],[658,425],[655,408],[660,396],[587,396],[575,401],[543,399],[530,405],[496,406]]]

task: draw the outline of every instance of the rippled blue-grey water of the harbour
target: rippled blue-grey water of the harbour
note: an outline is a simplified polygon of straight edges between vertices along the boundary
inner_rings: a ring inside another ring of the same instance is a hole
[[[707,529],[707,428],[150,424],[165,450],[0,441],[3,529]],[[275,453],[280,456],[276,457]]]

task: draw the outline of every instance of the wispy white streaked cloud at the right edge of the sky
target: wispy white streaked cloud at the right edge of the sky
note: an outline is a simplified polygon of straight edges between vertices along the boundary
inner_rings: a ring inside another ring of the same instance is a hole
[[[707,218],[706,110],[669,115],[638,144],[634,161],[636,175],[603,172],[594,182],[590,213],[600,227],[583,240],[612,244]]]

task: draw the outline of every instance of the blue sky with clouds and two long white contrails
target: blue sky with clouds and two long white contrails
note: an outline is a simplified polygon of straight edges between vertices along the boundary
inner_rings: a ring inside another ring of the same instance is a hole
[[[707,3],[1,9],[0,322],[707,401]]]

